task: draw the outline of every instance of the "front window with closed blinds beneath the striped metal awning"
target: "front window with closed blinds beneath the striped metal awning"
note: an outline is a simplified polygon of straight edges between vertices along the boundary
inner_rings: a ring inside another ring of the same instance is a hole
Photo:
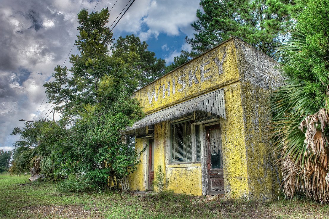
[[[171,163],[200,161],[199,126],[195,126],[195,145],[192,145],[191,121],[173,123],[171,126]],[[195,148],[192,148],[195,147]],[[192,158],[192,149],[196,158]]]

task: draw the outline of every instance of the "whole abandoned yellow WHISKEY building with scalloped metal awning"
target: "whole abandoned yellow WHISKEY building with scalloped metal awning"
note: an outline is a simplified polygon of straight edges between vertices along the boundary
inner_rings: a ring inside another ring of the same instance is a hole
[[[277,62],[238,38],[136,91],[146,117],[130,128],[141,162],[134,190],[151,188],[162,166],[175,193],[272,199],[278,189],[269,142]]]

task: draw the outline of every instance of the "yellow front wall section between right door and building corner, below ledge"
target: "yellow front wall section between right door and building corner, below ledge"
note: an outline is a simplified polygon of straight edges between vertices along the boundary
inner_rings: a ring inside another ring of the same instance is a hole
[[[242,118],[241,82],[224,87],[226,120],[220,120],[225,194],[248,198],[248,174]]]

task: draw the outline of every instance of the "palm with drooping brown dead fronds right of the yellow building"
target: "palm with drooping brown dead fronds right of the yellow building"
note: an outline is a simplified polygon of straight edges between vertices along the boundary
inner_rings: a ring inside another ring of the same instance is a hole
[[[294,32],[291,40],[281,49],[282,62],[298,69],[300,59],[295,57],[306,44],[305,35]],[[281,186],[287,198],[292,198],[295,191],[300,190],[309,198],[328,203],[327,98],[323,99],[320,107],[316,106],[310,101],[314,99],[314,94],[305,92],[305,87],[303,80],[287,80],[287,85],[274,92],[271,99],[272,140],[283,176]]]

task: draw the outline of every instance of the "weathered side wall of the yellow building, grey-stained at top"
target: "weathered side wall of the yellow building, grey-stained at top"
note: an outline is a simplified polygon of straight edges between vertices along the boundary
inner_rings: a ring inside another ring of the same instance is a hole
[[[278,191],[277,168],[270,145],[270,92],[282,85],[278,63],[237,39],[241,100],[245,130],[249,199],[273,199]]]

